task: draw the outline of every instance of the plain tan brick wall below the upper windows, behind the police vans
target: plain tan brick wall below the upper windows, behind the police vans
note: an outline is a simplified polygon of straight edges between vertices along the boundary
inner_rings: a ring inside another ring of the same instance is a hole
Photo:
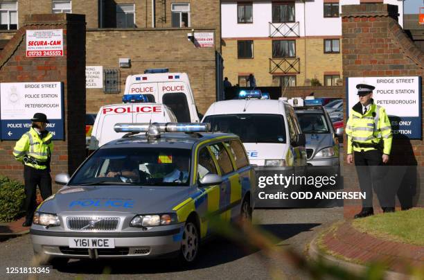
[[[215,49],[195,48],[187,40],[185,29],[87,31],[87,65],[118,69],[118,58],[131,59],[131,68],[120,69],[121,93],[105,94],[103,89],[87,89],[87,112],[98,112],[100,106],[121,103],[127,76],[143,73],[148,68],[166,67],[170,71],[188,73],[200,112],[206,112],[215,101]]]

